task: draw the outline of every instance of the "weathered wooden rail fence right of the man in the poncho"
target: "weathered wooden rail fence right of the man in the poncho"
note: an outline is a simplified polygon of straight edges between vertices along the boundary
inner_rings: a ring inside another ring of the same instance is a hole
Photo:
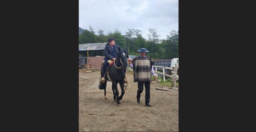
[[[179,75],[177,75],[177,68],[178,68],[178,64],[175,64],[175,67],[163,67],[163,66],[156,66],[153,65],[153,67],[155,67],[156,69],[154,70],[154,72],[156,73],[156,76],[158,76],[157,74],[161,74],[163,76],[163,82],[172,79],[172,87],[176,87],[176,80],[179,80]],[[157,68],[162,68],[162,72],[158,72]],[[165,74],[165,69],[169,69],[172,70],[171,73],[173,73],[172,75],[169,74]],[[170,77],[169,79],[165,80],[165,76]]]

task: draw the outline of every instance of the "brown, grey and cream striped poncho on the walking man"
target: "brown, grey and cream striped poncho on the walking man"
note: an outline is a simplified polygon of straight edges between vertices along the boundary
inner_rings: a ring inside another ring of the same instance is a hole
[[[133,82],[151,81],[153,60],[150,57],[135,57],[132,59]]]

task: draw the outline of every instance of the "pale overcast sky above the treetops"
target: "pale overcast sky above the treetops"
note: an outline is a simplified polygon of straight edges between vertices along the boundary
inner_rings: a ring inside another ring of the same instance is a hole
[[[79,27],[103,30],[106,35],[117,28],[122,35],[127,28],[141,30],[148,39],[150,28],[157,29],[160,39],[172,30],[179,31],[179,0],[79,0]]]

